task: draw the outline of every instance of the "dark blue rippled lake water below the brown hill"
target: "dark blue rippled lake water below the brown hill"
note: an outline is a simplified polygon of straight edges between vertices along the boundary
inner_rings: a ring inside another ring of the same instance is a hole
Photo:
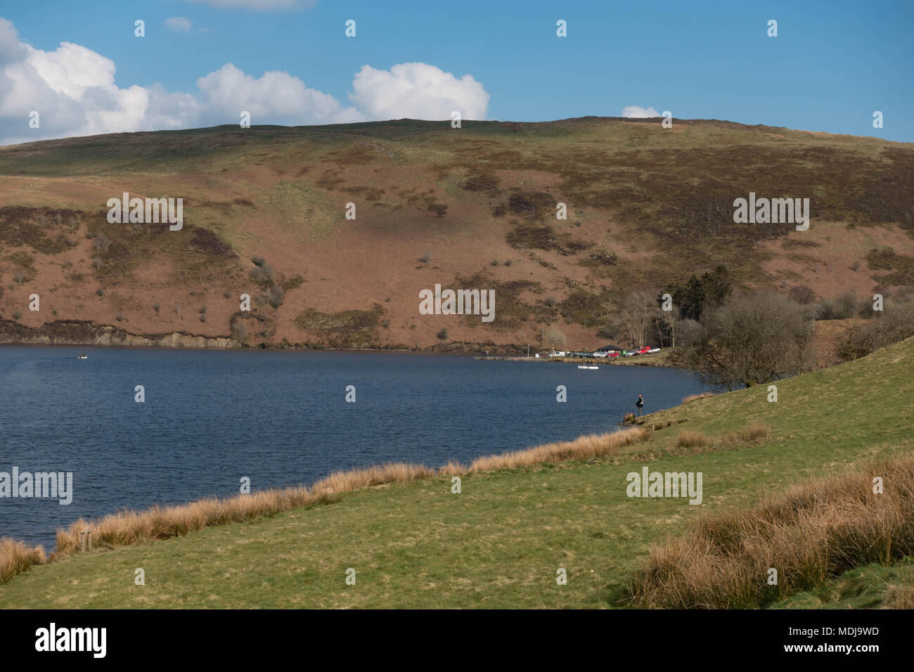
[[[73,501],[0,498],[0,537],[123,507],[312,483],[336,469],[450,458],[615,428],[705,388],[670,368],[408,353],[0,347],[0,472],[72,472]],[[144,403],[134,401],[143,385]],[[345,401],[347,385],[356,402]],[[558,403],[565,385],[568,402]]]

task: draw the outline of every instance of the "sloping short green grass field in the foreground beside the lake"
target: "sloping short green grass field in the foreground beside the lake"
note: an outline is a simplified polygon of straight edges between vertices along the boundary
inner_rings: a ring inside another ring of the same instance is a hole
[[[333,504],[179,539],[95,549],[0,585],[26,608],[617,607],[653,544],[697,517],[752,506],[805,478],[914,449],[914,339],[864,359],[648,416],[679,421],[613,458],[381,485]],[[760,446],[676,448],[760,421]],[[704,501],[628,498],[626,475],[702,472]],[[356,571],[347,585],[346,570]],[[567,585],[556,581],[559,568]],[[145,585],[135,585],[143,569]],[[904,568],[902,568],[904,569]],[[874,607],[896,568],[847,572],[775,606]]]

